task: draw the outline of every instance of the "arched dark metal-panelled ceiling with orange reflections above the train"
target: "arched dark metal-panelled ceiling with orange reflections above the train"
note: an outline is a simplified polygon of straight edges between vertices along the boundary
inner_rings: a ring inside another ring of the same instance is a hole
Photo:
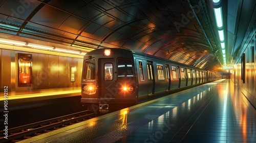
[[[0,0],[0,32],[87,52],[132,49],[215,70],[223,58],[212,7],[211,0]]]

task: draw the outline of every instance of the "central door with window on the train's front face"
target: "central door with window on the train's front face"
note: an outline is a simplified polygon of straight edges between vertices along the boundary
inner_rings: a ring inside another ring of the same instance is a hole
[[[104,98],[106,93],[110,91],[110,89],[115,88],[115,79],[114,79],[114,58],[109,59],[99,59],[99,67],[98,67],[98,82],[99,82],[99,97]],[[112,94],[111,94],[112,95]],[[114,98],[115,95],[112,95]]]

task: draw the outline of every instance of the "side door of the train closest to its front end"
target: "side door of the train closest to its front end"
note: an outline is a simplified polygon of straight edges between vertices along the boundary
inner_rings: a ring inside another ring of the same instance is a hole
[[[148,96],[152,96],[154,94],[154,87],[155,87],[153,62],[147,61],[146,66],[147,66],[147,74],[148,74]]]

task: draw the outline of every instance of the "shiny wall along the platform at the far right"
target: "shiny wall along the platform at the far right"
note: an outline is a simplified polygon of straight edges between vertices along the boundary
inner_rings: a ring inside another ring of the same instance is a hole
[[[256,23],[254,23],[256,27]],[[234,70],[231,72],[231,78],[239,87],[239,94],[245,96],[251,105],[256,109],[256,29],[249,31],[246,42],[240,47],[240,56],[237,63],[234,65]]]

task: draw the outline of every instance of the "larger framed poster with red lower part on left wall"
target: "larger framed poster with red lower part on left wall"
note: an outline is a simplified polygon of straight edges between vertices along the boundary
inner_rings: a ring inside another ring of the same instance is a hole
[[[32,86],[32,55],[18,53],[18,86]]]

